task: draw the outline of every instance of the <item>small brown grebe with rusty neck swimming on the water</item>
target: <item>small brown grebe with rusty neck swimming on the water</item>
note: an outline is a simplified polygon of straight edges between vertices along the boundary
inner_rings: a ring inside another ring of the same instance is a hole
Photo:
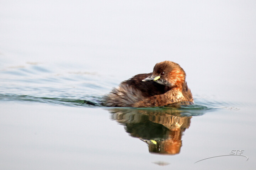
[[[138,74],[123,81],[102,100],[110,107],[156,107],[169,104],[193,104],[185,81],[186,73],[177,63],[157,63],[153,73]]]

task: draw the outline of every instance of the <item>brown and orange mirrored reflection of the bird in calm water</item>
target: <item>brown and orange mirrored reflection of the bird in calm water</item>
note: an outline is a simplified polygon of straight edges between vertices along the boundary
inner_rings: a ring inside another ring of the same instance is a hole
[[[191,116],[177,109],[108,109],[111,119],[125,126],[130,136],[148,144],[150,153],[180,153],[183,132],[190,126]]]

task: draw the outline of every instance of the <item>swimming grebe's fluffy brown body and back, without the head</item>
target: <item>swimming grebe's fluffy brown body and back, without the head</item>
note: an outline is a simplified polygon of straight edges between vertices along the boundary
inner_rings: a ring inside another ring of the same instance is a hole
[[[177,92],[154,81],[142,81],[151,74],[138,74],[123,81],[110,94],[103,97],[103,105],[110,107],[154,107],[180,101],[193,102],[192,94],[186,83],[183,85],[183,91]],[[180,98],[177,98],[179,96]]]

